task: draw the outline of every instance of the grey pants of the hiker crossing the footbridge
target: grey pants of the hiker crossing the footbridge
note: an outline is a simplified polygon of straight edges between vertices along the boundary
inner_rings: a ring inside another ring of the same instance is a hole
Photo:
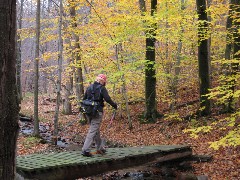
[[[90,151],[93,141],[95,140],[97,150],[102,149],[102,140],[100,138],[100,125],[102,122],[103,113],[98,112],[95,118],[92,118],[90,122],[90,127],[85,139],[82,151]]]

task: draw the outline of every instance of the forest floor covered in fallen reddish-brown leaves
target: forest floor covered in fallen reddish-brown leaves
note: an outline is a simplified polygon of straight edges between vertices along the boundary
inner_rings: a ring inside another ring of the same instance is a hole
[[[25,116],[33,116],[33,98],[25,98],[21,103],[21,113]],[[163,112],[160,106],[159,111]],[[210,148],[209,142],[219,140],[227,134],[228,128],[224,126],[224,121],[216,124],[209,132],[200,133],[198,138],[192,138],[189,133],[183,130],[208,125],[213,121],[218,121],[229,115],[212,115],[198,120],[179,121],[173,118],[162,117],[154,124],[141,124],[139,117],[144,110],[143,104],[131,105],[131,120],[133,129],[128,129],[128,120],[117,111],[116,118],[109,128],[109,122],[112,116],[111,111],[105,111],[101,133],[102,137],[112,142],[116,146],[147,146],[147,145],[173,145],[187,144],[192,147],[193,154],[211,155],[213,159],[210,162],[194,163],[194,174],[206,175],[212,180],[238,180],[240,179],[240,147],[222,147],[219,150]],[[192,107],[194,108],[194,107]],[[52,132],[53,117],[55,111],[55,102],[46,97],[39,98],[39,119],[40,124],[44,126],[45,132]],[[186,112],[180,109],[179,112]],[[181,114],[185,116],[186,114]],[[168,120],[167,120],[168,119]],[[20,123],[21,126],[21,123]],[[30,125],[29,125],[30,126]],[[230,127],[229,127],[230,128]],[[81,149],[86,136],[88,125],[79,123],[78,113],[73,115],[64,115],[62,110],[59,114],[59,140],[66,144],[71,144],[72,148]],[[34,139],[31,135],[25,135],[20,132],[17,142],[17,155],[26,155],[32,153],[43,153],[51,151],[68,150],[67,148],[54,147],[50,143],[42,143]]]

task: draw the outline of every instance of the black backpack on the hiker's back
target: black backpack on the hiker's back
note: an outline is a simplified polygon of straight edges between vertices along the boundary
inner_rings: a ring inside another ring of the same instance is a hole
[[[91,97],[88,97],[87,99],[83,100],[81,102],[81,112],[85,113],[89,117],[96,117],[97,112],[98,112],[98,107],[99,107],[99,97],[101,94],[101,85],[98,85],[96,89],[94,89],[94,85],[92,84],[90,86],[90,91],[91,91]],[[96,90],[100,88],[98,99],[95,99],[96,97]]]

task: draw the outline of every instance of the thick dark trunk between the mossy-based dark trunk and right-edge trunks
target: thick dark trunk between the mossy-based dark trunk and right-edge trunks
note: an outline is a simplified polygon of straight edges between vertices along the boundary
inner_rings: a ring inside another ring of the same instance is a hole
[[[208,39],[206,39],[206,31],[208,29],[208,17],[206,12],[206,0],[197,0],[198,12],[198,68],[200,79],[200,115],[209,115],[211,112],[210,100],[207,95],[210,88],[209,77],[209,52]]]

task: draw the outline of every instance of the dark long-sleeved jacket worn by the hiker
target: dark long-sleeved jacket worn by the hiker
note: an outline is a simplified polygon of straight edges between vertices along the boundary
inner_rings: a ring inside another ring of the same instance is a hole
[[[94,92],[94,101],[97,101],[100,104],[98,111],[103,112],[104,101],[109,103],[113,108],[117,109],[117,104],[112,101],[106,87],[96,81],[87,88],[83,100],[92,98],[92,88]]]

